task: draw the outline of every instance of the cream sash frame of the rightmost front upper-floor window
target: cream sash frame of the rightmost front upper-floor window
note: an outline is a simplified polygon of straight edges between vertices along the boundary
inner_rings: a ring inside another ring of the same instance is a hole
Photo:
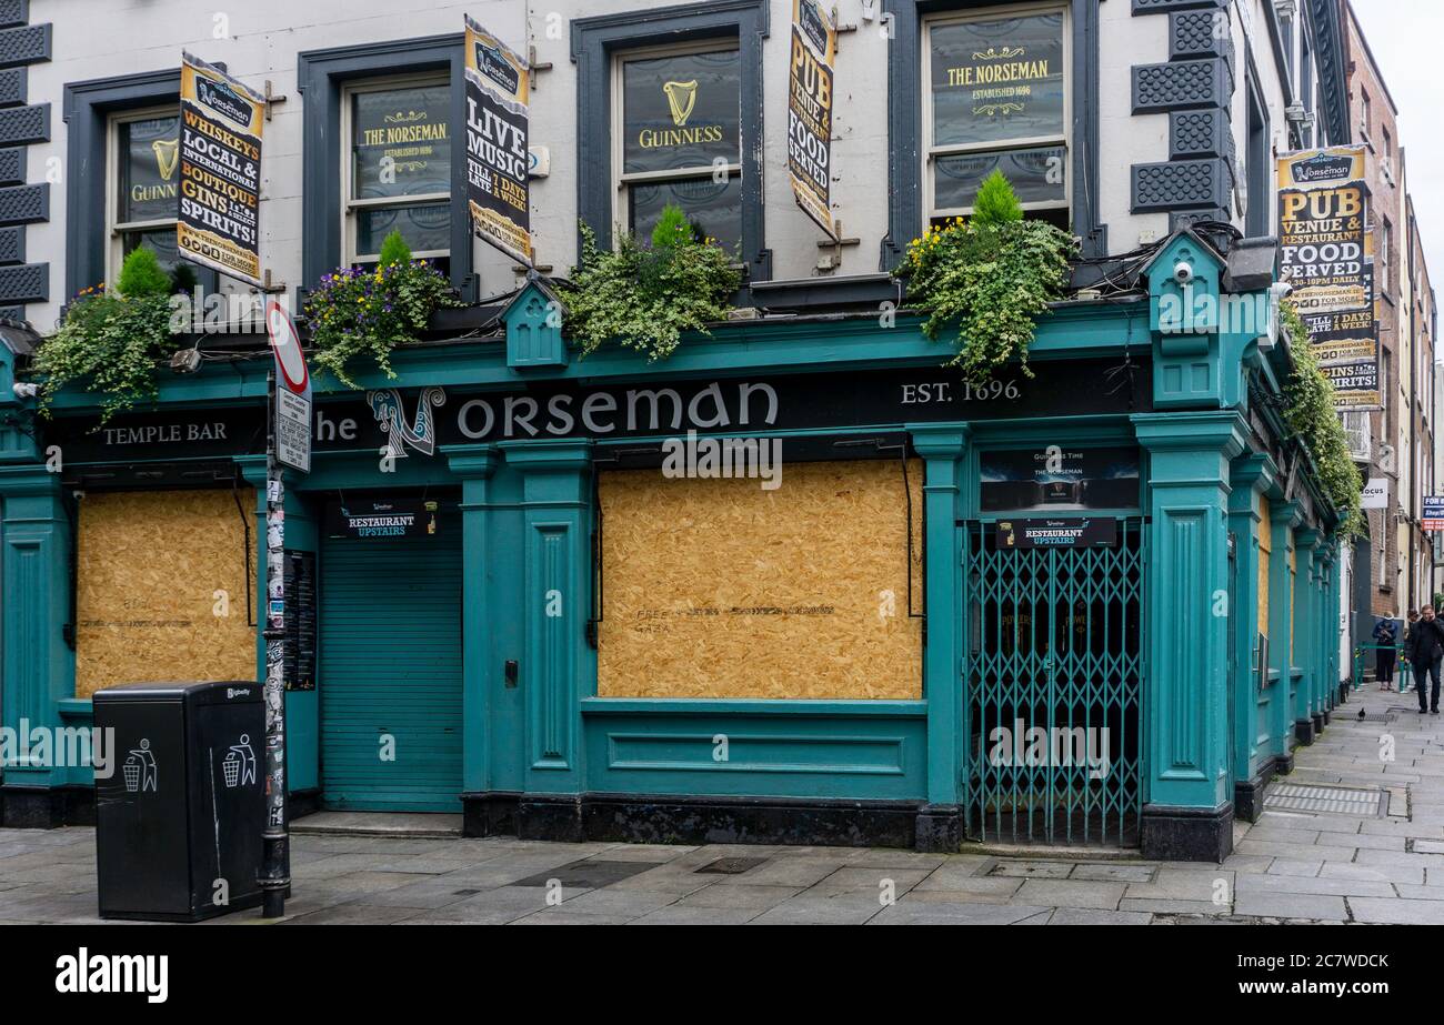
[[[1061,14],[1063,42],[1063,131],[1051,136],[1032,136],[1008,139],[1005,141],[957,143],[949,146],[933,144],[933,29],[940,25],[966,25],[969,22],[991,22],[1012,17],[1030,17],[1035,14]],[[1063,169],[1063,201],[1034,201],[1022,204],[1025,212],[1066,211],[1073,214],[1073,12],[1067,3],[1031,3],[1009,7],[969,7],[924,14],[918,26],[920,53],[920,88],[923,98],[923,134],[918,140],[918,153],[923,160],[923,222],[930,224],[939,218],[967,217],[972,206],[937,208],[936,165],[940,157],[960,156],[967,153],[1012,153],[1017,150],[1037,149],[1040,146],[1063,146],[1067,154],[1067,166]]]

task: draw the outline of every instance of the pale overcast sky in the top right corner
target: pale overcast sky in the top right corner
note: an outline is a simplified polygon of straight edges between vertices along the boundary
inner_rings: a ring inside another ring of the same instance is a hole
[[[1419,221],[1434,292],[1444,293],[1444,95],[1438,40],[1444,39],[1441,0],[1352,0],[1383,84],[1399,108],[1408,189]],[[1404,263],[1401,254],[1401,264]]]

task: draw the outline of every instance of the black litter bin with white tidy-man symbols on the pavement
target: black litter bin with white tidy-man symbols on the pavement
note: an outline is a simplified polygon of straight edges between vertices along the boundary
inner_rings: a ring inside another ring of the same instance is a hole
[[[133,683],[94,703],[95,729],[114,730],[110,775],[95,778],[100,917],[198,921],[257,907],[261,686]]]

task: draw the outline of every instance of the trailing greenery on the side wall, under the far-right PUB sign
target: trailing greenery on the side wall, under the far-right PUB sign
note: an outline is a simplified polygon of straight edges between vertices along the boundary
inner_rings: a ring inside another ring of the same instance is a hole
[[[1294,372],[1284,387],[1284,422],[1313,455],[1320,487],[1343,517],[1341,531],[1362,536],[1363,481],[1349,455],[1344,424],[1334,411],[1334,385],[1318,368],[1308,325],[1287,299],[1279,303],[1279,325],[1294,359]]]

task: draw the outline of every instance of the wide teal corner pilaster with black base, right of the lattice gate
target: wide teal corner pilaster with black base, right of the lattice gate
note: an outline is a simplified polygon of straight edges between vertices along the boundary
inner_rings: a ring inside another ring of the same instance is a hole
[[[1222,860],[1233,849],[1229,462],[1246,424],[1229,410],[1135,416],[1134,426],[1149,455],[1144,856]]]

